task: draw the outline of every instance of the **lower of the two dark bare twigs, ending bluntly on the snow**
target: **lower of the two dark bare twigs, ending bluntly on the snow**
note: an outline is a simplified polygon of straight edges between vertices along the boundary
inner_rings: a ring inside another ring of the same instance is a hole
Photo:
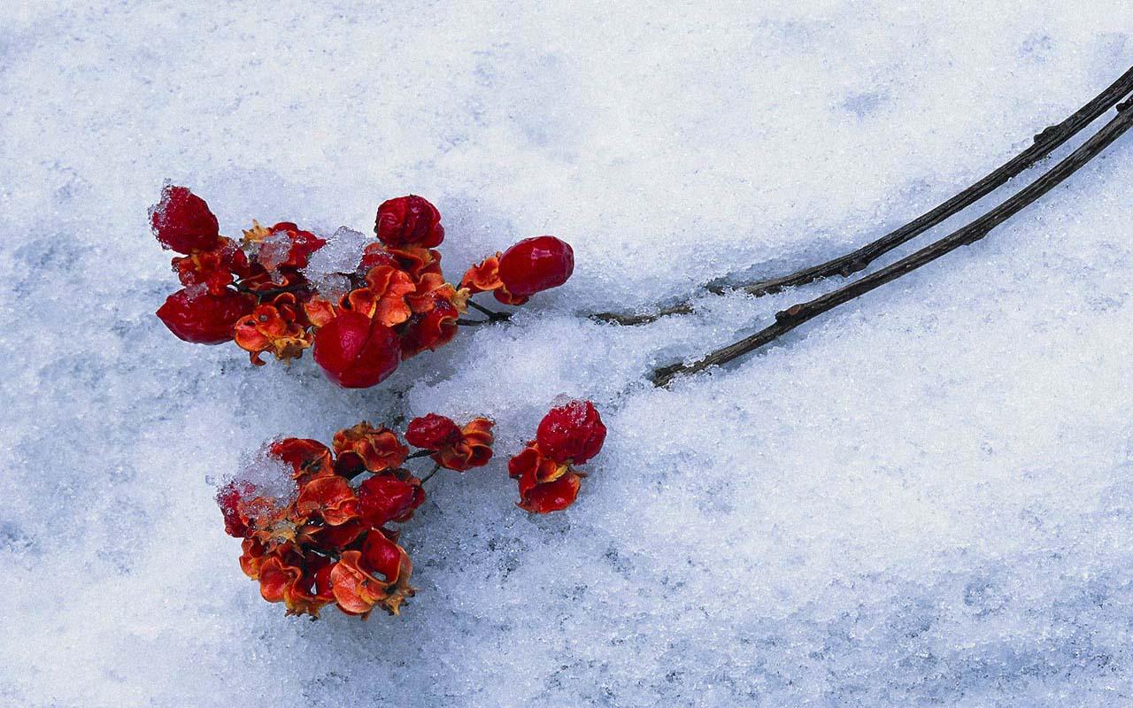
[[[1050,191],[1054,187],[1073,174],[1079,168],[1088,163],[1110,143],[1116,140],[1123,133],[1133,126],[1133,101],[1122,103],[1117,106],[1117,117],[1106,123],[1090,139],[1079,146],[1073,153],[1056,164],[1042,177],[1038,178],[1019,193],[1012,195],[999,206],[985,213],[976,221],[953,231],[938,241],[905,256],[904,258],[888,265],[876,273],[870,273],[847,285],[827,292],[807,302],[793,305],[787,309],[776,313],[775,324],[772,324],[751,336],[729,344],[722,349],[713,351],[695,364],[673,364],[658,368],[654,372],[653,382],[657,386],[665,386],[673,378],[701,372],[708,367],[725,364],[751,352],[772,342],[804,322],[813,319],[823,313],[830,310],[843,302],[847,302],[862,296],[879,285],[901,278],[902,275],[915,271],[917,268],[936,261],[940,256],[948,254],[961,246],[973,244],[988,234],[1012,215],[1037,201],[1039,197]]]

